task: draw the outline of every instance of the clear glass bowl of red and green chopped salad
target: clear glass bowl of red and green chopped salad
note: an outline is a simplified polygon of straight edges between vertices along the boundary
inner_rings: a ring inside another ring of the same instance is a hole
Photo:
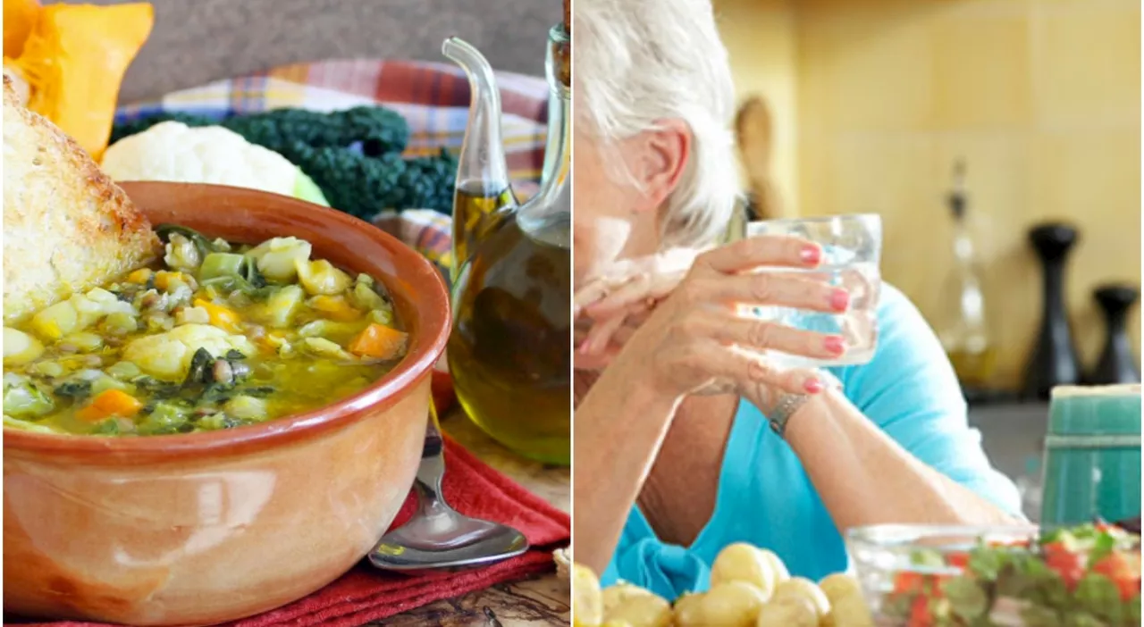
[[[1141,538],[1119,526],[875,525],[847,549],[879,626],[1141,624]]]

